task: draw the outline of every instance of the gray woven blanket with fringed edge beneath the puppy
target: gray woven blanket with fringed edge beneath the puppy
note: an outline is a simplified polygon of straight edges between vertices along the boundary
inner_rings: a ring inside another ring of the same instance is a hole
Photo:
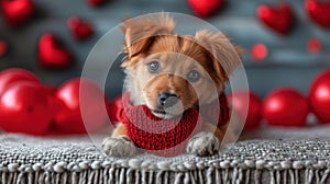
[[[4,134],[0,183],[330,183],[330,139],[326,131],[319,137],[241,140],[209,158],[141,153],[118,159],[95,145],[103,136],[91,141]]]

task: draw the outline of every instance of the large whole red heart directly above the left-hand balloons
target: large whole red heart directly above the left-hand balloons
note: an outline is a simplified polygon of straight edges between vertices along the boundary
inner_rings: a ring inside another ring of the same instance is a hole
[[[40,64],[46,68],[67,68],[73,62],[72,54],[52,33],[45,33],[38,42]]]

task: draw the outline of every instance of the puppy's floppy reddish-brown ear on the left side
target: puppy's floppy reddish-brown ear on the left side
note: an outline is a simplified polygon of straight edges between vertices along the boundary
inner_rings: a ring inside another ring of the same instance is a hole
[[[173,19],[165,13],[123,21],[121,30],[125,35],[124,51],[128,53],[128,59],[147,51],[157,35],[170,34],[174,27]]]

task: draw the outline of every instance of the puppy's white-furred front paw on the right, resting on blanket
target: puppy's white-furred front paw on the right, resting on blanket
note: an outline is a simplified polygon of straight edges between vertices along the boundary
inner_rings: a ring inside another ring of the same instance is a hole
[[[187,152],[199,157],[213,156],[220,150],[220,140],[212,134],[201,131],[193,136]]]

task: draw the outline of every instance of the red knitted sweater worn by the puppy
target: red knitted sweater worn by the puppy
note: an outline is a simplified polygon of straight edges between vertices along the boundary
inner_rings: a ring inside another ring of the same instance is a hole
[[[230,111],[224,93],[215,101],[199,108],[189,108],[182,117],[162,119],[152,114],[146,105],[133,106],[130,94],[125,92],[109,105],[112,123],[121,122],[127,127],[129,138],[142,149],[163,157],[183,153],[188,138],[201,129],[202,123],[224,125],[230,118]]]

